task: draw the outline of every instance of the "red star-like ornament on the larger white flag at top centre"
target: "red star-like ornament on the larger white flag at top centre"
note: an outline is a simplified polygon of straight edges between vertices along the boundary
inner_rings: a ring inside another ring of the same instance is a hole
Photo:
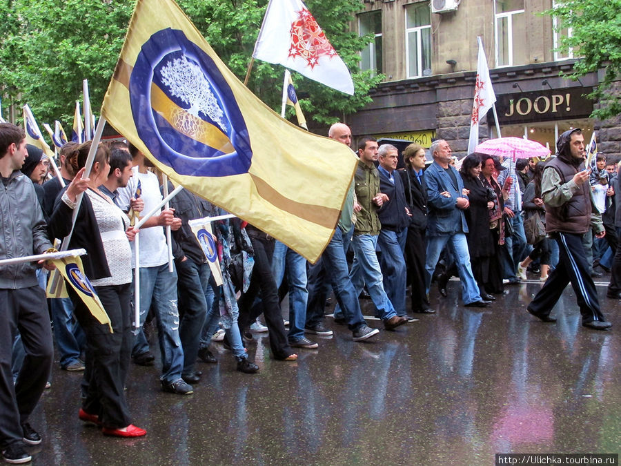
[[[298,12],[298,17],[291,23],[291,47],[289,57],[302,57],[306,60],[311,70],[319,63],[319,57],[336,57],[324,31],[306,8]]]

